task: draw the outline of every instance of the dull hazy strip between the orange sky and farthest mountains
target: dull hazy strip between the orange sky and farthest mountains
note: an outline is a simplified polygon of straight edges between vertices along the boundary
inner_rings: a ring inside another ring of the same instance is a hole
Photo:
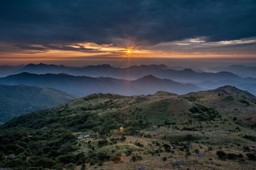
[[[169,67],[187,67],[187,68],[202,68],[207,69],[215,66],[231,66],[231,65],[243,65],[243,66],[255,66],[256,58],[146,58],[136,59],[134,61],[114,59],[109,61],[77,61],[77,62],[65,62],[65,61],[25,61],[22,63],[9,63],[1,62],[0,66],[26,66],[29,64],[38,65],[40,63],[46,65],[64,65],[64,66],[90,66],[90,65],[111,65],[114,67],[125,68],[129,66],[140,66],[140,65],[166,65]]]

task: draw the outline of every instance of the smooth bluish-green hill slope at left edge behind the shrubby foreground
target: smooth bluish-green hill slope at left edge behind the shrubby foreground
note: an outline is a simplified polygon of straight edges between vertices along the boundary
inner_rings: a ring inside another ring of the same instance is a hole
[[[0,124],[14,116],[51,108],[74,98],[77,97],[57,89],[0,84]]]

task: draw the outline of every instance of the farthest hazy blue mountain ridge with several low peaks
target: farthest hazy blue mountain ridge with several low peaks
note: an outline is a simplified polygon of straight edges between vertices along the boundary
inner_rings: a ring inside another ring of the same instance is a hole
[[[161,79],[172,79],[175,81],[220,81],[225,79],[239,79],[241,77],[234,73],[219,72],[205,73],[195,72],[190,68],[184,70],[168,69],[165,65],[140,65],[127,68],[116,68],[111,65],[90,65],[84,67],[70,67],[63,65],[38,65],[29,64],[17,71],[17,73],[67,73],[70,75],[84,75],[89,77],[112,77],[116,79],[140,79],[146,75],[154,75]]]

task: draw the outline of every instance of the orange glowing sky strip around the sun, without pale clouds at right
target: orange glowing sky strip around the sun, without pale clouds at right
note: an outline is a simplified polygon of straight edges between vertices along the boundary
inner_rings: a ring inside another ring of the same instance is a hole
[[[139,47],[135,45],[134,42],[116,42],[115,44],[102,44],[97,43],[70,43],[68,45],[58,45],[54,44],[52,46],[59,47],[59,49],[47,49],[45,50],[35,50],[31,49],[21,49],[16,47],[12,43],[0,43],[4,49],[10,49],[0,52],[0,65],[12,63],[33,63],[39,61],[78,61],[90,59],[97,61],[104,61],[105,59],[120,59],[124,60],[136,60],[136,59],[193,59],[193,58],[256,58],[256,54],[246,54],[244,52],[203,52],[194,51],[186,52],[180,50],[159,50],[150,49],[148,46]],[[29,47],[42,47],[44,45],[32,44]],[[68,47],[68,50],[65,50]],[[63,49],[61,49],[63,48]],[[73,48],[73,49],[72,49]],[[27,61],[27,62],[26,62]]]

